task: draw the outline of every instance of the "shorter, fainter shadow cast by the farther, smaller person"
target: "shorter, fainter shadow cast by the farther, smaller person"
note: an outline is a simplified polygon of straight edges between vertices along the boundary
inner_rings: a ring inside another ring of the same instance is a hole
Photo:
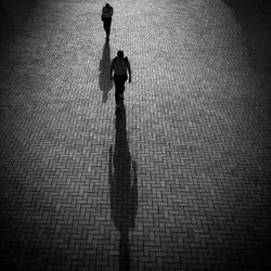
[[[99,87],[103,91],[103,102],[107,101],[109,90],[113,88],[113,81],[111,80],[111,46],[109,42],[105,42],[103,47],[103,57],[99,65]]]

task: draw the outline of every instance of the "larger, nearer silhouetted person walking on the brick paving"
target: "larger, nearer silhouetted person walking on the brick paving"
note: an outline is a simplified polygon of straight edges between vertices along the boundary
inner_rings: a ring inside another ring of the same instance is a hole
[[[128,57],[124,56],[124,51],[119,50],[117,56],[111,64],[111,79],[115,83],[115,101],[117,108],[120,106],[120,101],[124,101],[125,82],[128,79],[127,70],[129,74],[129,83],[131,82],[131,65]],[[113,77],[114,72],[114,77]]]

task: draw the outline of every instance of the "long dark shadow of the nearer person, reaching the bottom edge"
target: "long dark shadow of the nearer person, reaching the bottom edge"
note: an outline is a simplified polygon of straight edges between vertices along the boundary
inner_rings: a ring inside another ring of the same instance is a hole
[[[119,270],[128,271],[130,270],[129,231],[134,228],[138,211],[138,176],[137,164],[131,163],[129,152],[125,107],[116,109],[115,121],[114,152],[113,146],[109,149],[111,216],[120,232]]]

